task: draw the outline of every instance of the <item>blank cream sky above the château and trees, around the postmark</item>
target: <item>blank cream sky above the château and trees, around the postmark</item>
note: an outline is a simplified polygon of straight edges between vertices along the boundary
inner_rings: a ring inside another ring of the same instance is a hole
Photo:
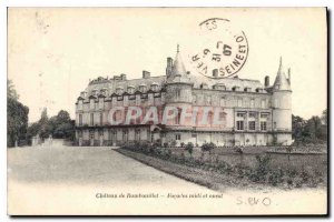
[[[327,101],[327,30],[324,8],[10,8],[8,78],[29,122],[41,109],[55,115],[75,102],[89,79],[126,73],[128,79],[165,74],[176,46],[187,70],[198,78],[190,56],[203,42],[199,23],[224,18],[248,40],[243,79],[274,82],[283,58],[292,73],[292,112],[321,115]]]

